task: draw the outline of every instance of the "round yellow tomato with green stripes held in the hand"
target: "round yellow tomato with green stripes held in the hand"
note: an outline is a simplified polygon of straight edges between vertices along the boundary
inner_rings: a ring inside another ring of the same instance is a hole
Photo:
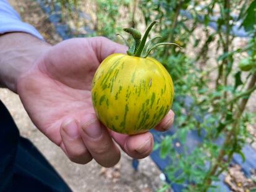
[[[134,135],[154,128],[171,109],[173,97],[171,76],[151,57],[112,54],[93,78],[96,115],[118,133]]]

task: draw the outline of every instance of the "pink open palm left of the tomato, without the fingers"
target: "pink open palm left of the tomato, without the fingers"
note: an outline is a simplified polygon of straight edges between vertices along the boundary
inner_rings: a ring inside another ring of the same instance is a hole
[[[101,61],[90,43],[76,39],[58,44],[19,81],[19,95],[32,121],[58,145],[64,119],[94,112],[90,88]]]

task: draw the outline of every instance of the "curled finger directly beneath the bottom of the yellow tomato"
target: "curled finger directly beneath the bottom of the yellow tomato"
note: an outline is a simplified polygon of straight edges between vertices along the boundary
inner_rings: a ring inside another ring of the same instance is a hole
[[[123,135],[114,131],[109,131],[116,143],[121,146],[122,150],[130,157],[142,159],[147,157],[153,149],[153,136],[150,132],[139,135]]]

